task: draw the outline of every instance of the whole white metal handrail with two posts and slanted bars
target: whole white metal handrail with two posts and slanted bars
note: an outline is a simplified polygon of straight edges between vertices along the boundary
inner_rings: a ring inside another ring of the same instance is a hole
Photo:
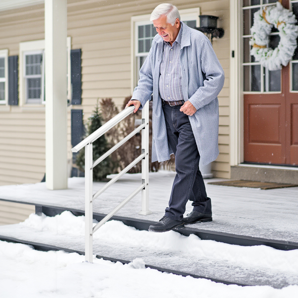
[[[142,125],[136,128],[132,133],[126,136],[113,148],[100,156],[93,162],[92,157],[92,143],[99,137],[105,134],[108,130],[113,128],[121,120],[126,118],[134,111],[135,107],[130,106],[121,111],[114,118],[106,122],[94,133],[89,135],[79,144],[77,144],[72,151],[78,152],[85,147],[85,261],[91,262],[93,259],[93,233],[106,223],[113,215],[115,215],[123,206],[125,206],[132,198],[134,198],[140,191],[142,191],[142,210],[139,214],[149,215],[149,103],[146,103],[142,110]],[[142,154],[131,162],[125,169],[118,173],[112,180],[106,183],[100,190],[93,194],[93,167],[104,160],[108,155],[122,146],[125,142],[131,139],[134,135],[142,130]],[[105,218],[93,227],[93,200],[100,196],[112,184],[114,184],[120,177],[127,173],[133,166],[142,160],[142,184],[133,191],[124,201],[122,201],[113,211],[111,211]]]

